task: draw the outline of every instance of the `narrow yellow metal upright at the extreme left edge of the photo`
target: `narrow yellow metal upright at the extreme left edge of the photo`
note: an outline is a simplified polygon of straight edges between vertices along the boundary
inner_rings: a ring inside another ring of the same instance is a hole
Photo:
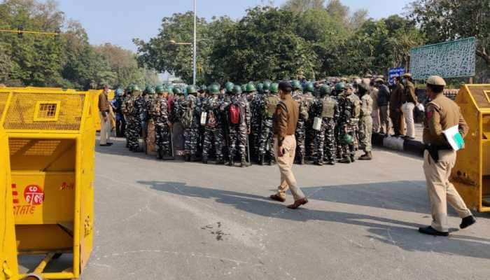
[[[1,116],[0,109],[0,116]],[[10,188],[8,138],[0,127],[0,280],[18,279],[17,247],[13,218],[13,195]]]

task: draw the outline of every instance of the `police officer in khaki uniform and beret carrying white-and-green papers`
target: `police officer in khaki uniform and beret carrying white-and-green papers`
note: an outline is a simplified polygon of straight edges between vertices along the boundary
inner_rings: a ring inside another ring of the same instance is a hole
[[[426,120],[423,128],[423,172],[426,175],[428,197],[432,210],[432,224],[419,228],[426,235],[448,236],[447,202],[463,219],[459,227],[468,228],[476,222],[456,188],[449,182],[451,169],[456,163],[456,151],[449,146],[442,133],[449,127],[458,125],[463,137],[468,133],[468,125],[461,116],[459,106],[442,94],[446,82],[439,76],[427,79],[426,92],[431,102],[426,106]]]

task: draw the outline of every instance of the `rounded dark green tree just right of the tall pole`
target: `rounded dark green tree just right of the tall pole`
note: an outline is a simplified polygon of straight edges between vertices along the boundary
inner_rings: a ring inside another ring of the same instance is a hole
[[[222,63],[230,80],[239,83],[312,73],[316,53],[296,34],[296,22],[297,15],[290,10],[252,8],[227,30],[212,58]]]

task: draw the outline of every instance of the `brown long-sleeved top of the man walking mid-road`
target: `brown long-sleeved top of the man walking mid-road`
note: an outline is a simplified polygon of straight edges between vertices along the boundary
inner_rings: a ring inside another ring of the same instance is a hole
[[[281,99],[281,102],[277,104],[276,112],[272,118],[272,131],[277,137],[279,146],[282,146],[282,141],[287,135],[295,134],[299,116],[299,104],[293,100],[290,94],[286,94],[286,99]]]

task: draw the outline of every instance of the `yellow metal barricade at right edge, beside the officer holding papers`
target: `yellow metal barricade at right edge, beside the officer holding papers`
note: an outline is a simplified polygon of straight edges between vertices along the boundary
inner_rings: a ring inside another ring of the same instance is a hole
[[[456,99],[470,127],[451,182],[470,209],[490,211],[490,85],[464,85]]]

